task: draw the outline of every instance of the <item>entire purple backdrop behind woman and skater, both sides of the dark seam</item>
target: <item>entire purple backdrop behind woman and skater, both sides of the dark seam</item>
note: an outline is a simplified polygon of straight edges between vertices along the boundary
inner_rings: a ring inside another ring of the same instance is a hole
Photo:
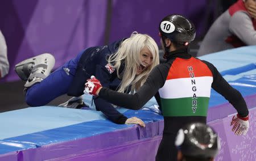
[[[15,64],[44,52],[55,56],[56,69],[82,49],[130,36],[132,31],[147,33],[159,44],[158,24],[168,14],[187,16],[200,35],[205,27],[206,3],[112,0],[111,19],[106,22],[108,1],[105,0],[0,1],[0,29],[10,62],[10,73],[0,82],[18,80],[13,70]],[[105,28],[106,24],[109,28]]]

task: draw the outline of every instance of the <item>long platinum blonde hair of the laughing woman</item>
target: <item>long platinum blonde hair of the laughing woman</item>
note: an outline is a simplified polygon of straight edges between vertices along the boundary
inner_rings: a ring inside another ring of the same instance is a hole
[[[140,53],[144,47],[150,50],[153,60],[151,65],[144,69],[141,74],[136,75],[138,67],[142,64]],[[121,43],[117,52],[109,57],[108,62],[117,70],[118,78],[121,78],[121,75],[119,75],[121,63],[125,63],[118,92],[125,92],[131,85],[131,92],[133,93],[146,82],[150,71],[159,64],[158,45],[152,37],[133,32],[128,39]]]

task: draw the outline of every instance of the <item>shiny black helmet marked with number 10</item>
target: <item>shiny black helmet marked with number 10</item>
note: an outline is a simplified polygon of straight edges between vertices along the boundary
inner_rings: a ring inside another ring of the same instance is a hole
[[[188,45],[195,39],[196,29],[192,22],[181,15],[168,15],[159,24],[159,36],[165,36],[178,44]]]

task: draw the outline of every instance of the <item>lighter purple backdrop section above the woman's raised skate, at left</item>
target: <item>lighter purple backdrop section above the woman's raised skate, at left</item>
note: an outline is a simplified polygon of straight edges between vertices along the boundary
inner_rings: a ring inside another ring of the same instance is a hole
[[[1,1],[0,29],[6,39],[10,73],[16,63],[49,52],[58,67],[82,49],[104,40],[107,1]]]

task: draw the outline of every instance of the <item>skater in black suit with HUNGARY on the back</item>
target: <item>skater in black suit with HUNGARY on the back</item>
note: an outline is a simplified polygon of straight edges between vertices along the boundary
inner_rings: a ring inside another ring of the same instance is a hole
[[[167,61],[154,67],[135,94],[121,94],[101,87],[95,77],[85,84],[85,92],[129,109],[140,109],[155,96],[164,116],[163,138],[156,160],[176,160],[175,137],[184,125],[206,124],[211,88],[236,108],[238,114],[231,122],[233,132],[241,135],[249,129],[249,112],[240,92],[225,81],[212,63],[188,54],[188,44],[195,35],[195,26],[184,16],[168,15],[161,20],[159,36]]]

